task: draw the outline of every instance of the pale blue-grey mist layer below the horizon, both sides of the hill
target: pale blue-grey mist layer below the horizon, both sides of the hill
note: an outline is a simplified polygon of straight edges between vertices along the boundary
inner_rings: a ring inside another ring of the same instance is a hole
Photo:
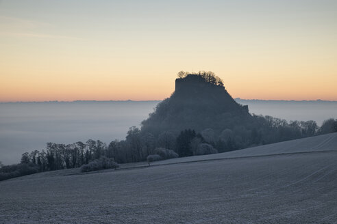
[[[321,125],[337,117],[337,102],[241,100],[249,112]],[[42,150],[47,142],[72,143],[125,139],[130,126],[140,126],[160,101],[15,102],[0,104],[0,161],[18,163],[23,152]]]

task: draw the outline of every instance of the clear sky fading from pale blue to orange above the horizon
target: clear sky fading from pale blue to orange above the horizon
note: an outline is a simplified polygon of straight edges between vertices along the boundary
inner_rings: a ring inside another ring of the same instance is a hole
[[[234,98],[337,100],[337,1],[1,1],[0,102],[162,100],[212,71]]]

